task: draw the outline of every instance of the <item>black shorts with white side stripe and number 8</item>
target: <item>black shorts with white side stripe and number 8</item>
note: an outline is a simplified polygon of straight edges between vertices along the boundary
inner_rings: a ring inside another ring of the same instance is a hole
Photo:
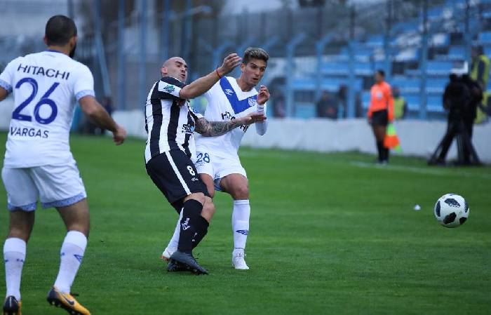
[[[170,150],[154,156],[146,167],[154,184],[177,213],[181,211],[184,197],[195,192],[210,196],[194,163],[181,150]]]

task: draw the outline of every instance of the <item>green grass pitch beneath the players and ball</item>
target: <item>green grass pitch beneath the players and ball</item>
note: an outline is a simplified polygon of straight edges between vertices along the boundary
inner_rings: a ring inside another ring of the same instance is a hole
[[[0,135],[2,153],[6,134]],[[144,140],[72,136],[91,232],[72,290],[92,314],[491,314],[491,168],[430,168],[422,159],[241,149],[250,179],[249,271],[231,269],[231,199],[195,250],[209,276],[160,260],[177,214],[144,170]],[[469,220],[441,227],[433,205],[462,194]],[[418,203],[422,210],[415,211]],[[0,194],[6,207],[6,194]],[[24,315],[46,302],[64,227],[38,210],[22,275]],[[2,235],[7,210],[0,211]],[[5,292],[1,264],[0,292]]]

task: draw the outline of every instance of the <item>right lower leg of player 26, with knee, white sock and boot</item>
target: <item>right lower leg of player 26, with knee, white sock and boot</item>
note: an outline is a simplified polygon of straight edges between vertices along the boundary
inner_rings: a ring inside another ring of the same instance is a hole
[[[68,232],[60,250],[60,270],[46,300],[55,307],[62,307],[69,314],[90,315],[90,312],[70,293],[87,246],[89,230],[87,201],[82,199],[70,206],[59,207],[57,210]]]

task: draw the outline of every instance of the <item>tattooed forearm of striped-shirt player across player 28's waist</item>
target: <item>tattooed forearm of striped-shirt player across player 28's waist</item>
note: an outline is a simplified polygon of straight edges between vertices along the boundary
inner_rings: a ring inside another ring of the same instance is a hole
[[[204,118],[200,118],[196,121],[196,133],[201,133],[205,137],[215,137],[217,135],[224,135],[230,130],[240,126],[248,126],[256,121],[264,121],[266,117],[263,113],[251,113],[247,116],[232,119],[231,121],[207,121]]]

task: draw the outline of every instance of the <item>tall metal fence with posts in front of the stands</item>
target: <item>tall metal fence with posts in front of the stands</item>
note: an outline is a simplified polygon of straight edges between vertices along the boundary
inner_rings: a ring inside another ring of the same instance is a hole
[[[172,55],[184,57],[196,79],[227,53],[260,46],[271,55],[263,79],[271,114],[304,118],[318,115],[323,92],[338,118],[363,116],[375,69],[399,86],[410,115],[442,116],[450,68],[470,60],[471,44],[485,37],[491,18],[491,1],[325,1],[238,15],[220,11],[225,2],[74,0],[66,8],[84,31],[78,58],[93,69],[97,95],[112,98],[116,109],[141,108]],[[39,48],[29,41],[20,49],[0,36],[1,51],[10,52],[0,62]]]

